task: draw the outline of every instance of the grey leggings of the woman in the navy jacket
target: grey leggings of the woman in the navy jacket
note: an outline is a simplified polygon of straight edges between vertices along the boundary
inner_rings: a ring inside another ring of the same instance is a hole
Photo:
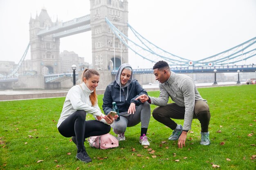
[[[136,106],[135,109],[136,111],[134,114],[127,114],[127,112],[122,113],[120,115],[120,120],[115,121],[115,123],[111,125],[116,134],[124,133],[126,131],[126,127],[135,126],[139,124],[139,122],[141,122],[141,128],[148,128],[151,115],[150,104],[145,102],[144,104]]]

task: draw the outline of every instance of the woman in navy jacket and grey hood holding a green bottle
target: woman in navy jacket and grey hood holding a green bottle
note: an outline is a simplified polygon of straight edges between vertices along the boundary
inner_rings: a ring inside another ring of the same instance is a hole
[[[120,140],[125,140],[124,132],[126,132],[126,127],[135,126],[141,122],[139,142],[142,146],[149,146],[149,138],[146,134],[151,114],[150,104],[135,100],[142,94],[147,95],[148,93],[136,79],[132,79],[132,67],[124,63],[119,67],[115,81],[106,87],[102,108],[107,115],[112,111],[112,102],[116,102],[120,120],[115,121],[115,124],[111,125],[111,127],[118,134]]]

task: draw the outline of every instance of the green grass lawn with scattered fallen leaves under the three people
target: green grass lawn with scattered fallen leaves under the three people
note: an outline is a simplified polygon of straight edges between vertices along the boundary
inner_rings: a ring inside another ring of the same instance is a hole
[[[179,149],[177,141],[168,141],[172,131],[151,117],[147,136],[152,142],[148,148],[139,144],[140,125],[137,125],[127,129],[126,141],[119,142],[119,148],[99,150],[85,144],[92,158],[87,164],[75,159],[76,146],[56,128],[65,97],[0,102],[0,169],[256,169],[253,156],[256,155],[256,85],[198,91],[210,106],[210,146],[199,144],[200,123],[196,119],[186,147]],[[159,91],[148,93],[159,95]],[[102,97],[98,96],[100,107]],[[155,107],[151,105],[152,110]],[[183,124],[183,120],[177,123]],[[112,130],[110,133],[113,134]],[[155,152],[149,153],[150,148]],[[39,160],[43,161],[37,163]],[[220,168],[213,168],[212,164]]]

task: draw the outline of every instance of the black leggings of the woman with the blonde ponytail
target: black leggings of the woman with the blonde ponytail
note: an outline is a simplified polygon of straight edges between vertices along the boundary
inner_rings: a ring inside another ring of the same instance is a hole
[[[110,125],[97,120],[85,121],[84,110],[77,110],[65,119],[58,127],[58,131],[64,137],[76,137],[77,149],[84,149],[84,139],[91,136],[104,135],[110,132]]]

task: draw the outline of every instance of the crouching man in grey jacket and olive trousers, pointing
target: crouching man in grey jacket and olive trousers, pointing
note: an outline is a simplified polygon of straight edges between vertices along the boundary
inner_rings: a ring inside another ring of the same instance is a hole
[[[168,126],[173,133],[169,140],[178,140],[178,147],[185,146],[186,136],[191,129],[192,119],[198,119],[201,124],[201,145],[209,145],[208,126],[211,118],[207,101],[199,94],[193,80],[170,70],[167,62],[159,61],[153,66],[155,79],[159,81],[159,97],[140,95],[136,99],[141,102],[157,105],[153,117]],[[169,96],[175,103],[168,104]],[[172,119],[184,119],[184,125],[175,123]]]

